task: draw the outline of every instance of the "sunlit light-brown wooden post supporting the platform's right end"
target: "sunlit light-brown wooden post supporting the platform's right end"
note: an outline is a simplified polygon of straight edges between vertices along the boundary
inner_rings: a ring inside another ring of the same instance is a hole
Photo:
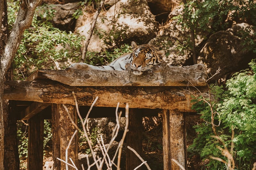
[[[182,112],[163,110],[164,169],[179,170],[175,159],[185,168],[184,117]]]

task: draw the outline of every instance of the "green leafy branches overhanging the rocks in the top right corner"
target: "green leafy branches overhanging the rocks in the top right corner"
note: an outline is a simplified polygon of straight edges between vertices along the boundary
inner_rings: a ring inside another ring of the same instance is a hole
[[[249,19],[251,18],[251,19]],[[227,30],[233,21],[248,20],[253,26],[256,25],[256,4],[254,1],[244,0],[189,0],[184,4],[182,14],[173,17],[185,30],[193,29],[200,35],[209,36],[221,30]],[[203,33],[203,34],[202,34]],[[251,38],[250,30],[241,31],[245,48],[255,51],[256,44]],[[255,34],[255,33],[254,33]],[[195,35],[196,36],[196,35]],[[255,37],[255,35],[254,35]],[[185,46],[181,44],[180,50],[189,47],[192,49],[191,37],[188,34]]]

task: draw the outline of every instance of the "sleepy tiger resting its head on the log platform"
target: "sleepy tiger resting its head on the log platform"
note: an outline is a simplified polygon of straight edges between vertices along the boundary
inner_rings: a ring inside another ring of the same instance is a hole
[[[165,55],[164,50],[156,50],[156,48],[144,44],[137,45],[134,41],[131,43],[132,52],[125,53],[108,65],[94,66],[86,63],[73,63],[69,68],[77,70],[126,70],[127,63],[130,63],[131,71],[134,75],[141,75],[146,70],[151,70],[154,66],[159,65],[163,61]],[[129,64],[128,64],[129,65]]]

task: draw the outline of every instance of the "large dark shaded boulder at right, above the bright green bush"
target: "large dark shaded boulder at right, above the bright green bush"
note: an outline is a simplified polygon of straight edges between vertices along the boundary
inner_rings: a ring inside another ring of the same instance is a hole
[[[213,75],[219,67],[221,69],[212,83],[215,80],[225,83],[235,72],[248,68],[248,63],[255,58],[252,49],[246,49],[243,45],[242,31],[245,29],[253,33],[252,26],[245,23],[236,24],[227,31],[214,33],[200,51],[198,63],[205,64],[208,74]],[[250,38],[255,42],[252,34]]]

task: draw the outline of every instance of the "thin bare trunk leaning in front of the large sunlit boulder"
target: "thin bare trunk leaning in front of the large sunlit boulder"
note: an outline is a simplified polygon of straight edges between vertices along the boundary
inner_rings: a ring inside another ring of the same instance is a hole
[[[91,37],[92,37],[92,33],[93,33],[93,29],[94,29],[95,23],[96,23],[97,18],[98,18],[99,14],[100,14],[100,11],[101,11],[101,8],[102,8],[102,6],[104,4],[104,1],[105,0],[101,0],[101,2],[100,2],[100,6],[99,6],[98,10],[96,11],[96,13],[94,15],[94,20],[92,21],[92,26],[90,28],[89,35],[88,35],[88,37],[87,37],[87,39],[86,39],[86,41],[84,43],[84,50],[83,50],[83,54],[82,54],[82,58],[81,58],[81,60],[83,62],[84,62],[84,59],[85,59],[85,56],[86,56],[86,53],[87,53],[88,45],[89,45]]]

